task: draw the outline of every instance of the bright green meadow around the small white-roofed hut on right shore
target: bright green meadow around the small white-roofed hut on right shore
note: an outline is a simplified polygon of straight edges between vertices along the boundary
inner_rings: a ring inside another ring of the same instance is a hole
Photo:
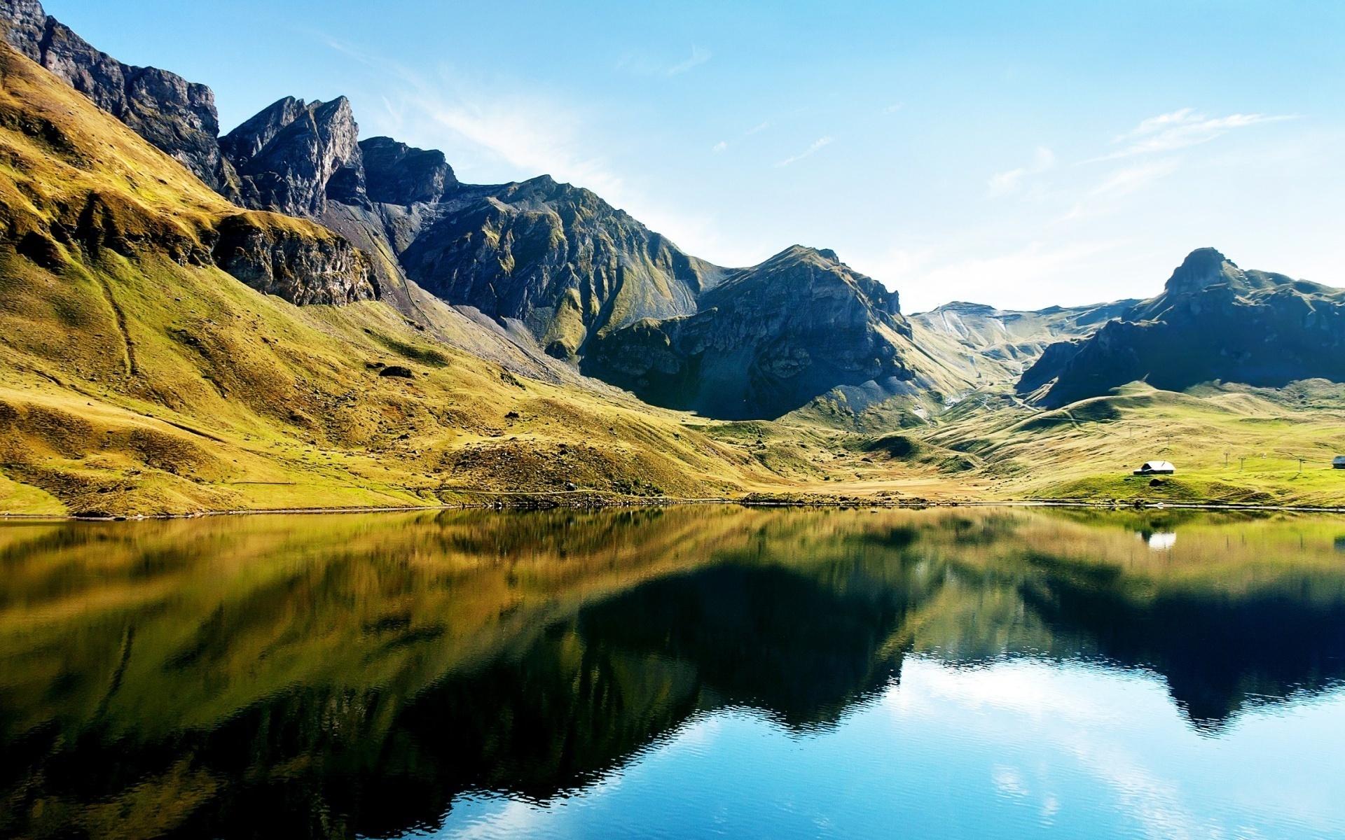
[[[1002,497],[1342,505],[1345,470],[1330,461],[1345,453],[1345,401],[1295,403],[1280,391],[1202,386],[1176,394],[1134,383],[1056,411],[963,417],[928,438],[985,458]],[[1158,484],[1131,476],[1153,458],[1171,461],[1177,474]]]

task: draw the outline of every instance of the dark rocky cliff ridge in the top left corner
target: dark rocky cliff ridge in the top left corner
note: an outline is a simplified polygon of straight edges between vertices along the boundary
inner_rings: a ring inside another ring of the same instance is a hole
[[[5,40],[178,159],[211,188],[231,192],[233,173],[219,153],[215,94],[156,67],[124,65],[100,52],[36,0],[0,0]]]

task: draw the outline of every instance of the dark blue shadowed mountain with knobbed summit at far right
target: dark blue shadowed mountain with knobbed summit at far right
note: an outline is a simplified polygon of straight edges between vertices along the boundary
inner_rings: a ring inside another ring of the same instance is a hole
[[[1216,379],[1280,387],[1345,380],[1345,290],[1243,270],[1215,249],[1192,251],[1163,293],[1084,341],[1048,348],[1018,391],[1063,406],[1128,382],[1181,391]]]

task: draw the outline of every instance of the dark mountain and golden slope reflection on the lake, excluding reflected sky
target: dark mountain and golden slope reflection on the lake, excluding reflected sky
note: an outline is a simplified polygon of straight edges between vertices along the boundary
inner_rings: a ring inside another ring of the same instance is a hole
[[[725,507],[9,521],[0,836],[429,829],[464,793],[582,789],[714,710],[834,727],[911,655],[1142,669],[1219,737],[1345,677],[1341,531]]]

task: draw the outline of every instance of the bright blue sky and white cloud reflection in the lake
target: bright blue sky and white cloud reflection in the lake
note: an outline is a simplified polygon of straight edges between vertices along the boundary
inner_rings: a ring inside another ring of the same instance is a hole
[[[432,836],[1334,837],[1342,720],[1333,698],[1209,737],[1153,675],[911,657],[835,728],[716,712],[572,798],[464,797]]]

